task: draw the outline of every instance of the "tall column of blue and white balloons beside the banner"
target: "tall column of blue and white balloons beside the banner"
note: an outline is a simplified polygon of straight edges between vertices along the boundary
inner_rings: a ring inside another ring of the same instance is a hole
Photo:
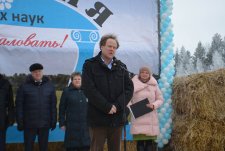
[[[173,1],[160,0],[160,35],[161,35],[161,78],[159,87],[164,97],[164,104],[158,109],[160,134],[157,137],[158,147],[168,143],[172,132],[172,83],[175,73],[173,51],[173,30],[170,16],[172,15]]]

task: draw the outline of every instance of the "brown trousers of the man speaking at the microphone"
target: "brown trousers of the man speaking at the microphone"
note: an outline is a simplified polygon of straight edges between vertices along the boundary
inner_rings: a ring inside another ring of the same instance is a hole
[[[90,151],[103,151],[107,140],[108,151],[120,151],[122,127],[90,127]]]

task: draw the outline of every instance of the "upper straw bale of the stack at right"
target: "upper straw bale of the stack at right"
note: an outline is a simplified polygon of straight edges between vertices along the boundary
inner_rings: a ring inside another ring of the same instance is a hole
[[[225,70],[175,78],[173,107],[177,115],[225,121]]]

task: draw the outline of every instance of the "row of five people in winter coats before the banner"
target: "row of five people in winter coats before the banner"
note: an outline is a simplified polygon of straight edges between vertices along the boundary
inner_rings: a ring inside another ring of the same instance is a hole
[[[152,112],[138,118],[131,116],[131,134],[137,141],[137,151],[155,151],[159,135],[156,109],[163,103],[157,81],[148,67],[129,76],[127,67],[116,57],[117,37],[102,36],[100,52],[87,59],[82,74],[71,74],[70,84],[63,90],[58,121],[65,131],[67,151],[120,151],[122,128],[127,109],[143,99]],[[0,74],[0,151],[6,151],[6,130],[17,122],[24,133],[24,150],[33,151],[36,137],[39,150],[48,150],[49,131],[56,128],[57,99],[55,87],[43,74],[43,65],[30,65],[30,75],[18,88],[15,106],[12,86]]]

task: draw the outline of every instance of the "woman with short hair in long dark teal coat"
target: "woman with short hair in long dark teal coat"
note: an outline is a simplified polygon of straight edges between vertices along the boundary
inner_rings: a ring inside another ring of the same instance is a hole
[[[87,102],[81,89],[81,74],[72,73],[71,84],[63,90],[59,105],[59,126],[65,131],[67,151],[89,151]]]

